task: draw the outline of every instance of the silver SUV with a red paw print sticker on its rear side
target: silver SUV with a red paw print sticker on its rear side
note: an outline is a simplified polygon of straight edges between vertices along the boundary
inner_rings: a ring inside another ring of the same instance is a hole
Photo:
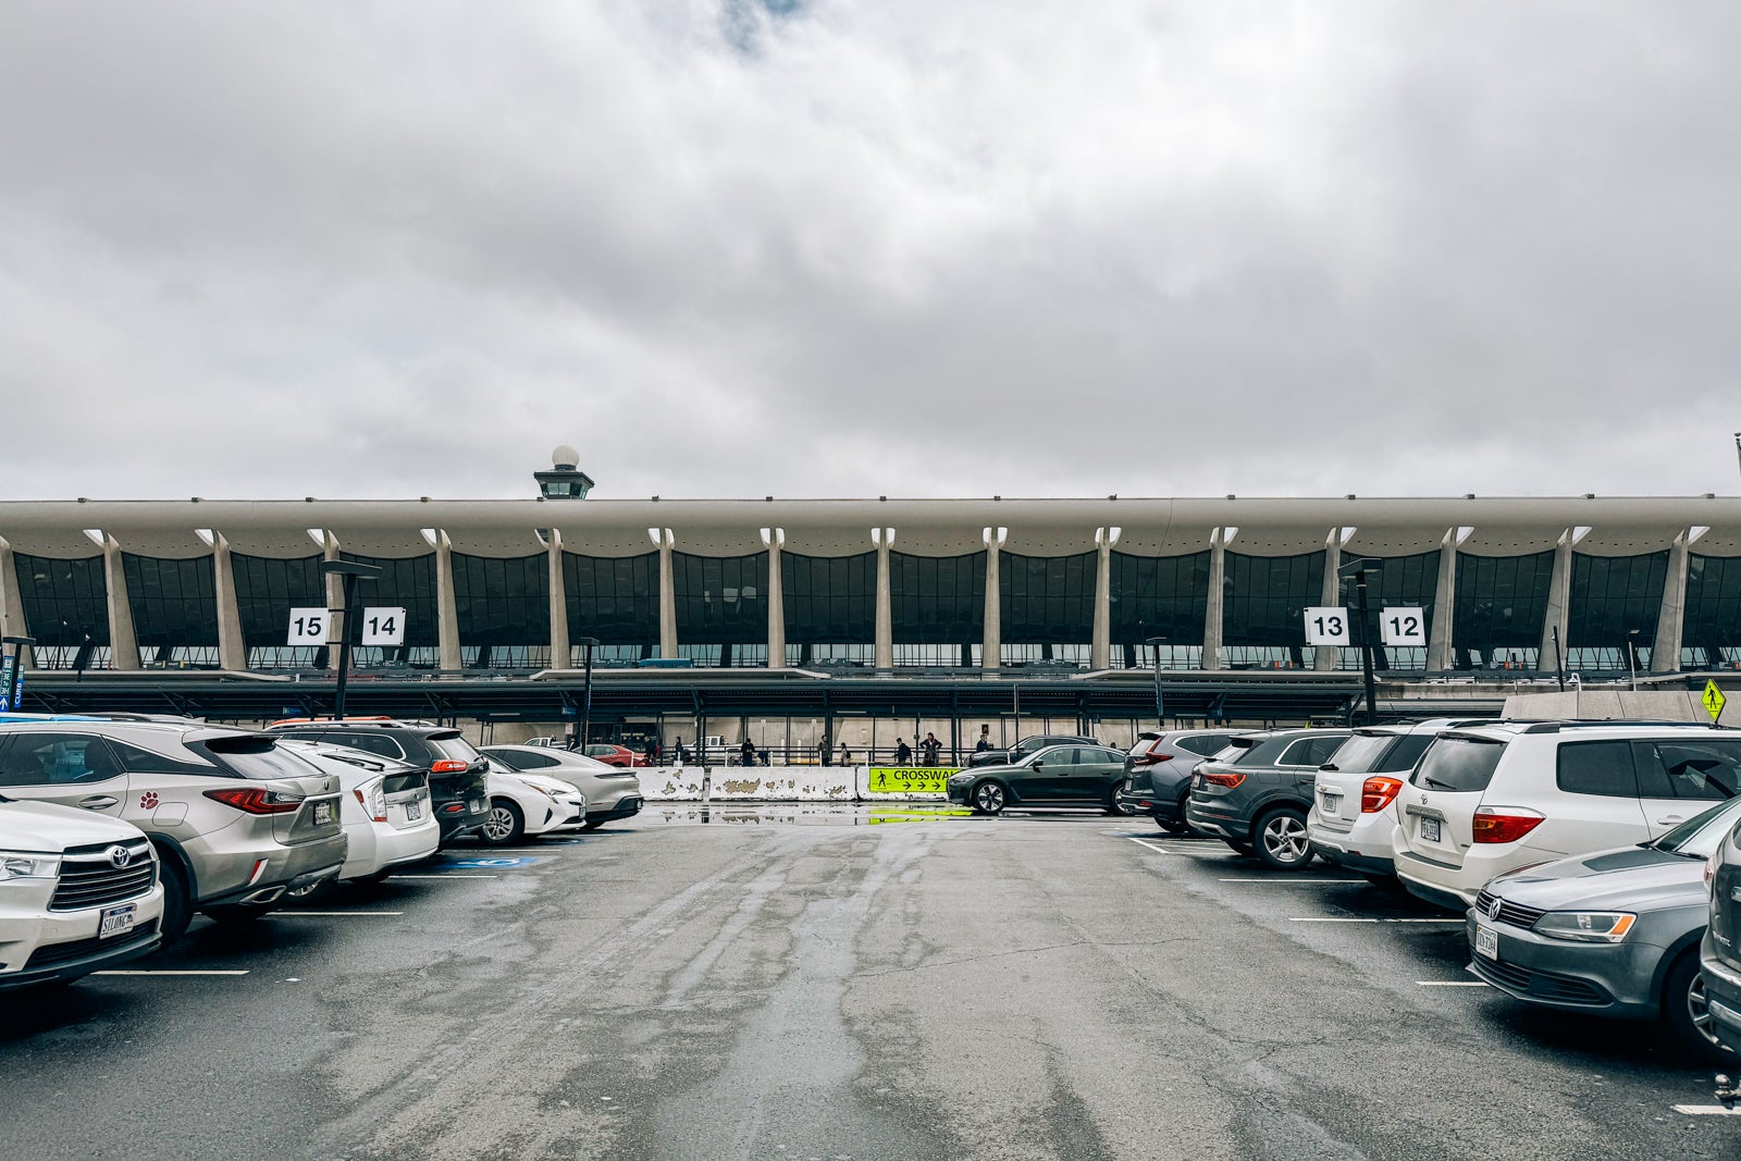
[[[265,735],[193,721],[0,724],[0,794],[124,818],[162,863],[164,940],[258,917],[339,874],[339,780]]]

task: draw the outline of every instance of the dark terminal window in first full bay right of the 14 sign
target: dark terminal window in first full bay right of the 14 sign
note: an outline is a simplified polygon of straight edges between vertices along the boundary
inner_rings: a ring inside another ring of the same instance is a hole
[[[460,653],[468,668],[550,663],[550,557],[453,554]],[[475,651],[475,653],[472,653]]]

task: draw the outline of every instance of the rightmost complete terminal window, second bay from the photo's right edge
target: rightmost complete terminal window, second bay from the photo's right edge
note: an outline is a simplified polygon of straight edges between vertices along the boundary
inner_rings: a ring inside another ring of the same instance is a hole
[[[1656,642],[1656,618],[1663,611],[1666,580],[1666,548],[1637,557],[1591,557],[1574,552],[1572,597],[1565,618],[1565,663],[1572,668],[1614,670],[1647,663],[1650,646]],[[1633,651],[1637,656],[1631,656]]]

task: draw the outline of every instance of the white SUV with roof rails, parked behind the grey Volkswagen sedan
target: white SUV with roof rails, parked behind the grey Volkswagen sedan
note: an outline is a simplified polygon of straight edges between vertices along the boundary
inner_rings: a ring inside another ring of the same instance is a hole
[[[1396,797],[1396,877],[1464,910],[1496,876],[1633,846],[1732,797],[1741,736],[1650,722],[1450,729]]]

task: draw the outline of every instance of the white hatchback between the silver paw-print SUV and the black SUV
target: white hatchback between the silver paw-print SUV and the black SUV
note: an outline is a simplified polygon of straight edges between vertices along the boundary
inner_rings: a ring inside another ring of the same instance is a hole
[[[339,825],[346,839],[339,879],[385,882],[395,869],[421,862],[440,846],[440,823],[421,768],[324,742],[284,738],[279,745],[338,775]],[[319,886],[324,884],[287,895],[313,895]]]

